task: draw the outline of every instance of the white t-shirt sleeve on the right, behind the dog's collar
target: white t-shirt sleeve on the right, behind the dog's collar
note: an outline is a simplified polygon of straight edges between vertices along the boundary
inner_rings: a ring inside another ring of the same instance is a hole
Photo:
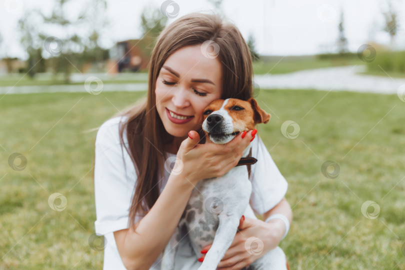
[[[257,162],[250,167],[252,182],[250,206],[256,214],[263,214],[281,201],[287,191],[288,183],[258,135],[252,141],[251,155],[257,159]]]

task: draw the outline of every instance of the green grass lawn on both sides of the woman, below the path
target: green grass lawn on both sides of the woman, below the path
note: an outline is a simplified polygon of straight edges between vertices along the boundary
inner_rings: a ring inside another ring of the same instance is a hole
[[[96,218],[96,131],[85,130],[143,94],[0,96],[0,269],[102,268],[103,252],[88,244]],[[294,217],[280,246],[291,269],[404,269],[405,102],[396,95],[263,89],[257,100],[272,115],[258,135],[289,183]],[[294,139],[281,133],[287,120],[299,125]],[[20,171],[8,164],[14,152],[27,160]],[[337,177],[322,174],[326,160],[338,164]],[[55,192],[67,199],[62,211],[48,205]],[[367,200],[380,207],[375,219],[361,212]]]

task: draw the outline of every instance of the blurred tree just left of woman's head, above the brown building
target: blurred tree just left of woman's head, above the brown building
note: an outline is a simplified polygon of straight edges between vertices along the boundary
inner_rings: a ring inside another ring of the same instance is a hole
[[[164,29],[167,17],[164,16],[159,8],[146,6],[140,15],[140,27],[142,37],[139,40],[139,47],[143,54],[150,56],[153,46],[156,43],[157,36]]]

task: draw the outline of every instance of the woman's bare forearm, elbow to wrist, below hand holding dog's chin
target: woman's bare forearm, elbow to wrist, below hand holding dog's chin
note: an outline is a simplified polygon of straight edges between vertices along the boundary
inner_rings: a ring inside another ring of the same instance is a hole
[[[170,175],[152,208],[138,222],[136,231],[128,229],[121,254],[126,267],[149,269],[168,243],[193,189],[191,183],[177,177]]]

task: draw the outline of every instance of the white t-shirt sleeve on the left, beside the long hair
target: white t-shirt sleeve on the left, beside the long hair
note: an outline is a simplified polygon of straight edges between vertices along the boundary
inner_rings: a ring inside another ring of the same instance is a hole
[[[126,149],[122,147],[121,150],[118,123],[116,118],[104,122],[95,139],[94,226],[97,234],[128,227],[129,206],[136,173]],[[140,218],[141,216],[137,216],[135,222]]]

